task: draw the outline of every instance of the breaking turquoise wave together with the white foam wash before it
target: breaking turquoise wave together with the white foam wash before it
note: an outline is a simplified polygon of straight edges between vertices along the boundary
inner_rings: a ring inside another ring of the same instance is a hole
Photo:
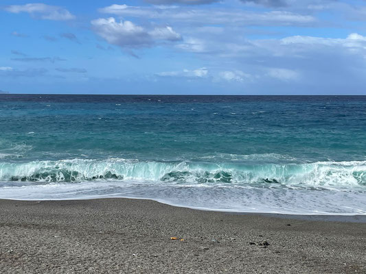
[[[71,179],[65,182],[67,176]],[[0,162],[1,199],[102,197],[155,199],[173,206],[232,212],[366,214],[366,161],[243,164],[111,158]]]

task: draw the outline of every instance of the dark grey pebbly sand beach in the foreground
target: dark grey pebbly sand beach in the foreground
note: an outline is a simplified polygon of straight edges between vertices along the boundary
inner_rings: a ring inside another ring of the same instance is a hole
[[[363,216],[230,214],[135,199],[0,200],[0,208],[0,273],[366,273]]]

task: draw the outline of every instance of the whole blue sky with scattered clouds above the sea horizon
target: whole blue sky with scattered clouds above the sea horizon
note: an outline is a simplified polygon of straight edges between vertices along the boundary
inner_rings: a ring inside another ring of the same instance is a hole
[[[0,0],[10,93],[366,95],[365,0]]]

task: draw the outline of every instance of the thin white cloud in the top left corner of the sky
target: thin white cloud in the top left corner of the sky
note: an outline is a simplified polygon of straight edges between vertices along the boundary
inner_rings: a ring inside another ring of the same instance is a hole
[[[54,21],[67,21],[75,18],[75,16],[65,8],[61,8],[56,5],[45,5],[43,3],[8,5],[5,6],[4,10],[16,14],[21,12],[27,12],[28,14],[31,14],[32,16],[36,16],[41,19]]]

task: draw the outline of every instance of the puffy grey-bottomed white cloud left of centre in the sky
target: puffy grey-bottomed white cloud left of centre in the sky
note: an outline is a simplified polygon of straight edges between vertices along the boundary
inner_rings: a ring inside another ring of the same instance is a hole
[[[91,21],[94,31],[107,42],[119,47],[148,47],[159,40],[180,40],[180,34],[172,27],[155,27],[148,31],[131,21],[115,21],[115,18],[99,18]]]

